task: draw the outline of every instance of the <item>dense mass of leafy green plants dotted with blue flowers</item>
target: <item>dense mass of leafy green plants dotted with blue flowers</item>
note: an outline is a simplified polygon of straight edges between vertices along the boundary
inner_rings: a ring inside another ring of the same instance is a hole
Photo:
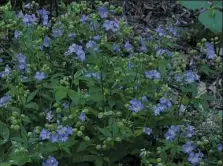
[[[221,165],[218,99],[199,88],[222,72],[219,39],[188,64],[175,23],[139,35],[122,7],[95,6],[0,8],[0,166]]]

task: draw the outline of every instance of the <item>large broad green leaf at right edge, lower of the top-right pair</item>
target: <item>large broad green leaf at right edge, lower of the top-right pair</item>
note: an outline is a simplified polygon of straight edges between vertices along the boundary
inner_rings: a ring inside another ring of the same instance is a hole
[[[214,11],[214,13],[213,13]],[[199,21],[213,32],[222,31],[222,12],[218,10],[209,10],[201,13],[198,17]]]

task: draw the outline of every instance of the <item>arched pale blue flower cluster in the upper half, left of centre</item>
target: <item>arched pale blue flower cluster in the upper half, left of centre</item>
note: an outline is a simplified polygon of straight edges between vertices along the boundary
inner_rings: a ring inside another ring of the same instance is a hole
[[[71,55],[72,53],[75,53],[77,55],[77,59],[80,61],[85,60],[85,52],[83,50],[83,47],[77,44],[72,44],[69,46],[68,51],[65,52],[65,56]]]

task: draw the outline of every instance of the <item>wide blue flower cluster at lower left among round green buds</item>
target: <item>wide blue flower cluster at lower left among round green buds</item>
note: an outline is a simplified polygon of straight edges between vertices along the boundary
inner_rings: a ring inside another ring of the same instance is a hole
[[[73,134],[73,129],[70,126],[59,126],[55,133],[50,132],[49,130],[43,129],[40,132],[40,139],[41,140],[49,140],[52,143],[55,142],[66,142]]]

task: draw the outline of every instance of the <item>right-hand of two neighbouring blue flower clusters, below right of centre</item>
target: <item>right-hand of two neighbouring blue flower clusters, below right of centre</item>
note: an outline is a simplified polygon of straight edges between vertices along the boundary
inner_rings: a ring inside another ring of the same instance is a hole
[[[161,112],[165,112],[166,110],[172,107],[172,102],[164,97],[160,98],[159,103],[154,108],[155,116],[160,115]]]

